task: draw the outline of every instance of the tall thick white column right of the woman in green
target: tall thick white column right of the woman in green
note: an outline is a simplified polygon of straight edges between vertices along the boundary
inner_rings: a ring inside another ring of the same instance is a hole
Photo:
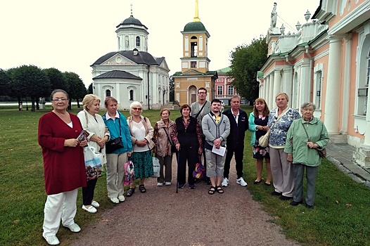
[[[328,79],[326,79],[325,93],[325,114],[324,121],[328,134],[339,134],[339,116],[340,116],[340,69],[342,60],[341,48],[342,39],[338,37],[329,37],[329,60],[328,60]]]

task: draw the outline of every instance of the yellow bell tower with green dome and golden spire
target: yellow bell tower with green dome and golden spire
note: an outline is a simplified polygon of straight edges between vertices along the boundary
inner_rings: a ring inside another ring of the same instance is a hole
[[[180,105],[191,104],[197,100],[197,90],[204,87],[208,91],[207,100],[215,98],[217,71],[210,71],[208,58],[208,38],[210,34],[198,18],[198,0],[196,16],[193,22],[185,25],[182,34],[181,72],[175,72],[174,100]]]

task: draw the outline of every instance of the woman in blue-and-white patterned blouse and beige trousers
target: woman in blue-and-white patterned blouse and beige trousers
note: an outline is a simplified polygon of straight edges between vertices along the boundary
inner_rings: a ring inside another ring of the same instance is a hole
[[[288,107],[288,95],[278,93],[275,98],[276,106],[270,112],[267,126],[271,129],[269,136],[269,154],[274,182],[272,195],[279,195],[281,200],[293,198],[294,177],[288,154],[284,152],[286,133],[294,119],[300,119],[300,113]]]

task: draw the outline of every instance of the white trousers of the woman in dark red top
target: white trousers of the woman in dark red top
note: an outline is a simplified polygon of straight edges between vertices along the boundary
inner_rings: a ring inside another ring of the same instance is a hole
[[[48,195],[44,207],[44,236],[56,235],[62,219],[63,226],[75,224],[75,215],[77,212],[77,191]]]

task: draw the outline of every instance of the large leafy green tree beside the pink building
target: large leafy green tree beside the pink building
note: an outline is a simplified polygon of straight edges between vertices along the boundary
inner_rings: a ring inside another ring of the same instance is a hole
[[[231,52],[231,71],[228,73],[234,78],[231,84],[250,102],[258,98],[256,76],[267,59],[267,50],[266,37],[261,36],[260,39],[253,39],[251,44],[238,46]]]

